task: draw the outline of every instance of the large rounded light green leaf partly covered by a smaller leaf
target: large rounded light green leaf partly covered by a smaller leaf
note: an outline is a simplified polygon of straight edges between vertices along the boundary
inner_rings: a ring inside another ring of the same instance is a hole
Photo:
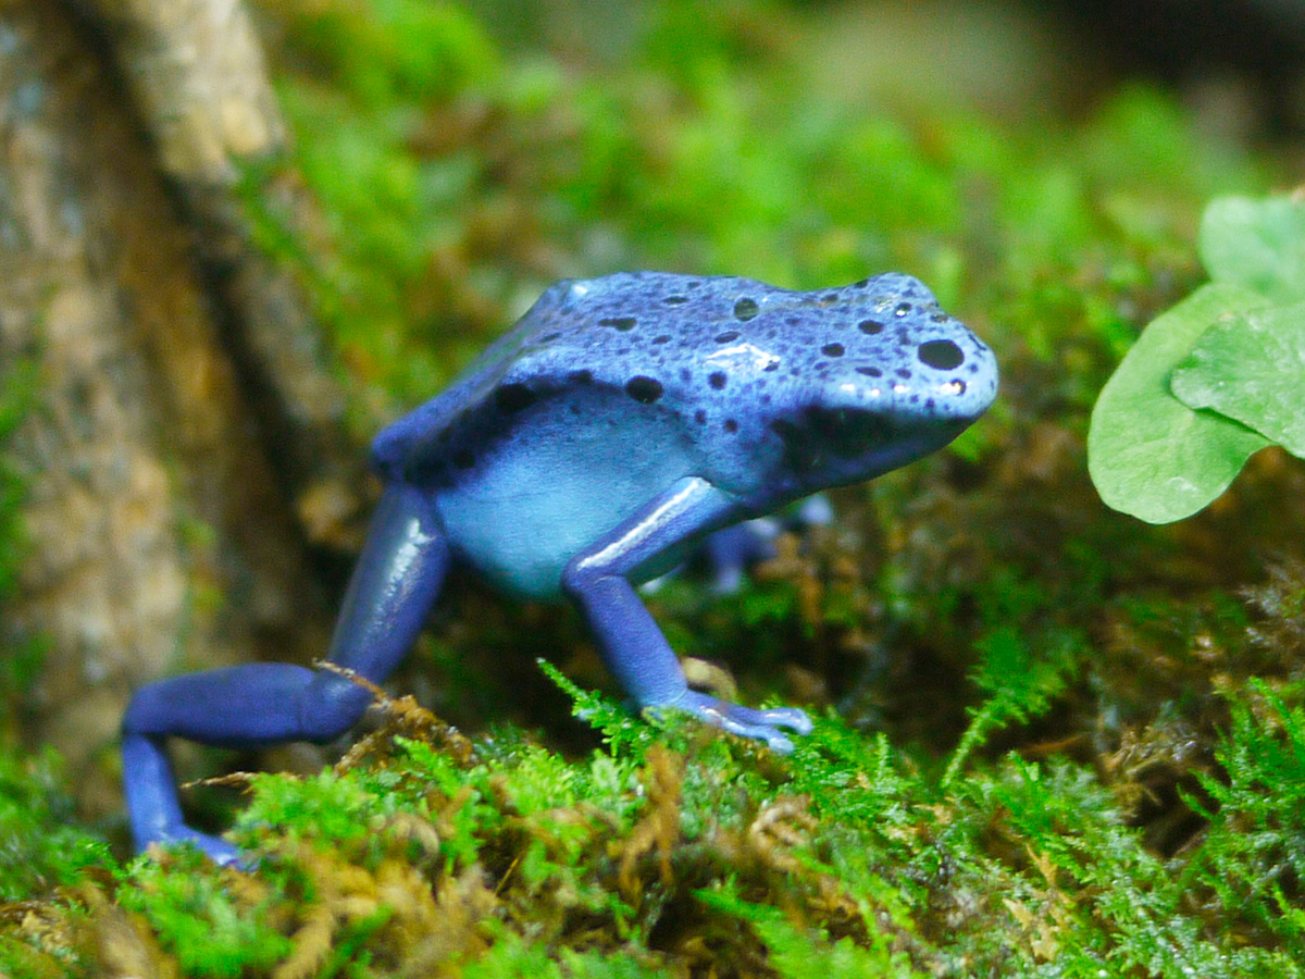
[[[1268,445],[1232,419],[1193,411],[1169,390],[1173,368],[1206,329],[1267,303],[1242,286],[1212,282],[1147,326],[1101,389],[1087,433],[1087,467],[1108,506],[1148,523],[1190,517]]]

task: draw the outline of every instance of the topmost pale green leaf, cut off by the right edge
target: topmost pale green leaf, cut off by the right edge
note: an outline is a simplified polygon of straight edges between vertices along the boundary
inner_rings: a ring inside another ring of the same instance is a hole
[[[1305,202],[1220,197],[1201,218],[1201,262],[1215,282],[1276,303],[1305,299]]]

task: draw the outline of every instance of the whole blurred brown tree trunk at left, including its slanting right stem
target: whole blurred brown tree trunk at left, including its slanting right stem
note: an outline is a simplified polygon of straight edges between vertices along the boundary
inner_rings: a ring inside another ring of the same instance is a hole
[[[0,380],[39,379],[9,449],[29,546],[4,628],[48,642],[31,734],[78,777],[133,687],[325,650],[311,544],[348,548],[365,483],[236,196],[282,140],[230,0],[0,5]]]

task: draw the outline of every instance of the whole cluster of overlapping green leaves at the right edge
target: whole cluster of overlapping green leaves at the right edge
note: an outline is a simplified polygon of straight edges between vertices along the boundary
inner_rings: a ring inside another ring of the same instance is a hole
[[[1305,201],[1215,200],[1199,252],[1211,281],[1146,328],[1087,437],[1101,499],[1150,523],[1205,508],[1267,445],[1305,457]]]

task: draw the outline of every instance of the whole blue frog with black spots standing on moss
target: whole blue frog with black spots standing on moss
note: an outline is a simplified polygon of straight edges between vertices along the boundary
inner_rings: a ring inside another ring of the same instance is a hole
[[[373,445],[386,488],[329,659],[382,681],[452,561],[502,590],[573,600],[641,707],[676,707],[775,751],[792,707],[689,691],[634,586],[705,536],[954,439],[992,403],[992,351],[919,281],[792,292],[743,278],[621,273],[561,282],[448,390]],[[369,694],[256,663],[142,688],[123,722],[138,847],[231,845],[187,828],[168,736],[219,745],[329,740]]]

